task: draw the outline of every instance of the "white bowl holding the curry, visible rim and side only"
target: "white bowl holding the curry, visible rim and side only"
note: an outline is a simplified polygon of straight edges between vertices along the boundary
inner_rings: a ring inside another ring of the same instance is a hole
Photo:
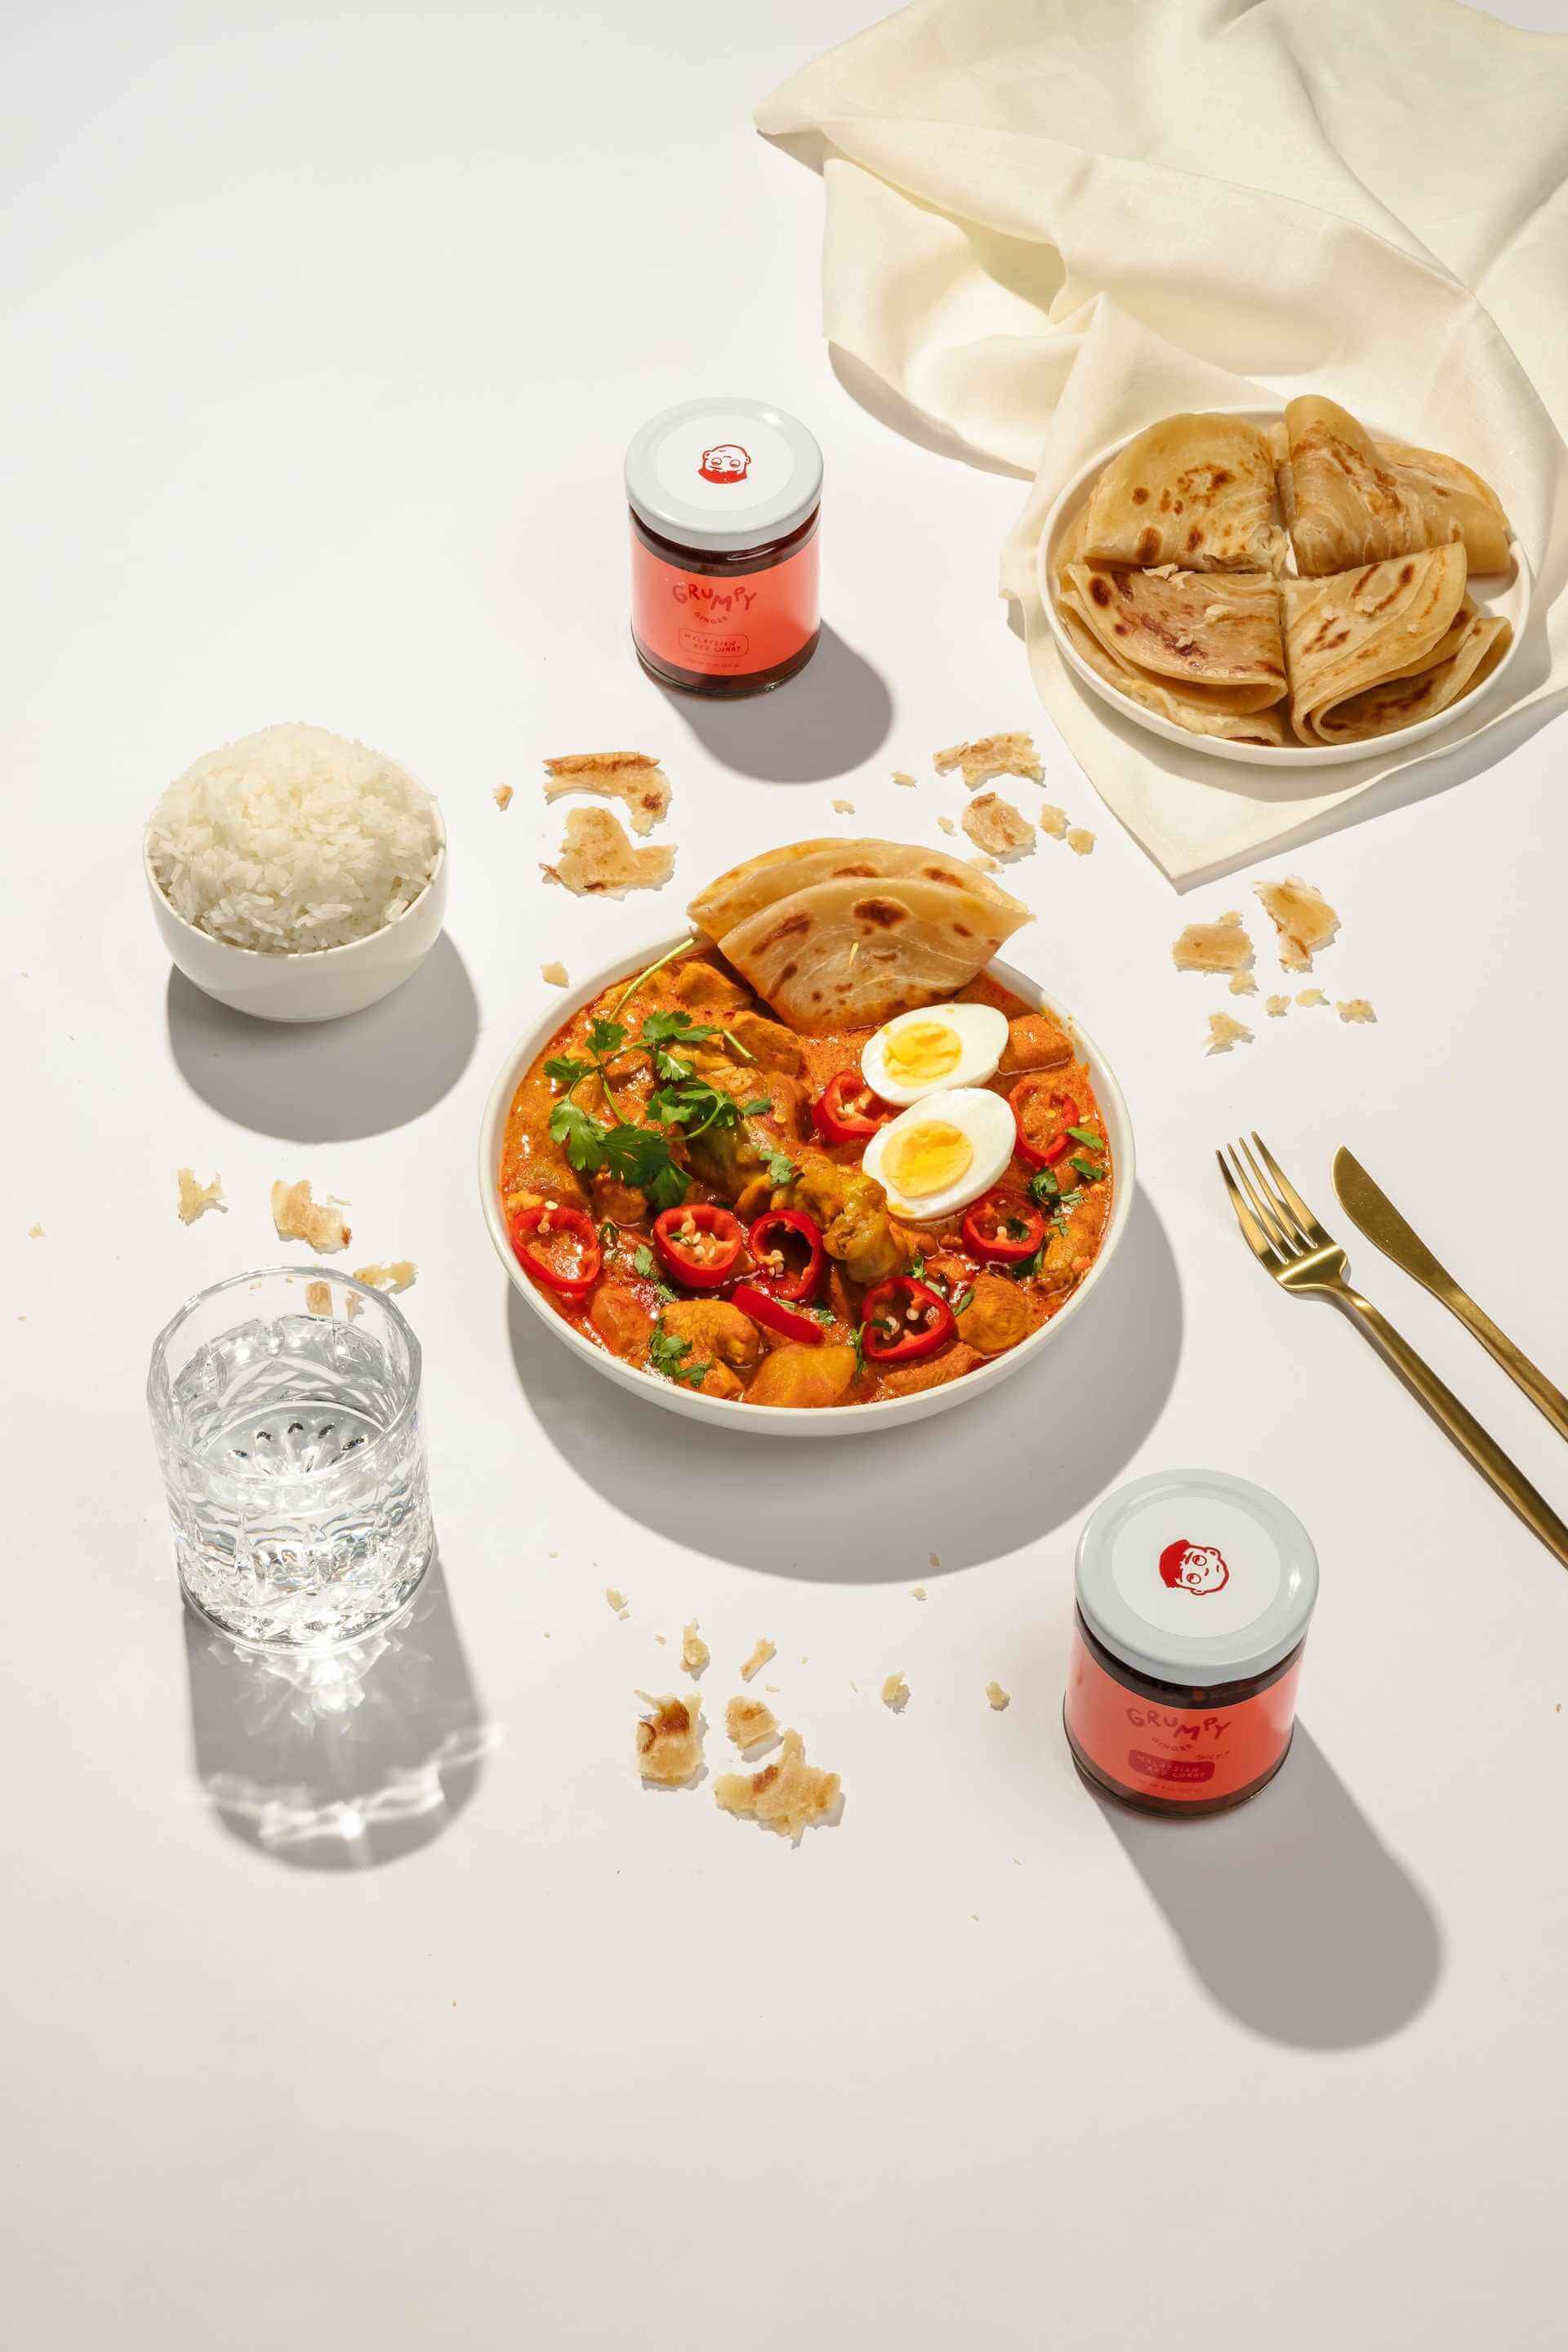
[[[496,1256],[505,1265],[512,1289],[529,1303],[534,1315],[555,1331],[557,1341],[574,1355],[602,1371],[607,1381],[618,1388],[630,1388],[635,1397],[646,1397],[649,1404],[663,1404],[668,1414],[684,1414],[689,1421],[712,1421],[717,1428],[752,1432],[762,1437],[863,1437],[870,1430],[891,1430],[907,1421],[926,1421],[929,1414],[945,1414],[954,1404],[969,1404],[971,1397],[983,1397],[987,1390],[997,1388],[999,1381],[1009,1381],[1023,1364],[1032,1364],[1051,1341],[1060,1334],[1063,1324],[1072,1322],[1081,1312],[1084,1301],[1105,1279],[1105,1268],[1110,1265],[1121,1235],[1126,1232],[1128,1216],[1133,1211],[1133,1124],[1126,1115],[1126,1101],[1121,1098],[1121,1087],[1112,1077],[1112,1068],[1100,1054],[1093,1037],[1086,1037],[1079,1023],[1065,1014],[1051,997],[1032,981],[1027,974],[1018,971],[1013,964],[992,964],[990,974],[1004,988],[1011,988],[1016,997],[1039,1011],[1056,1014],[1067,1035],[1074,1040],[1079,1056],[1088,1063],[1088,1075],[1095,1082],[1095,1096],[1100,1110],[1105,1112],[1105,1134],[1110,1136],[1112,1167],[1117,1192],[1112,1200],[1110,1225],[1105,1228],[1105,1240],[1100,1242],[1100,1254],[1091,1270],[1079,1282],[1077,1291],[1048,1324],[1011,1348],[1006,1355],[997,1355],[990,1364],[978,1371],[966,1371],[961,1381],[947,1381],[943,1388],[926,1388],[914,1397],[886,1397],[882,1404],[832,1404],[820,1409],[788,1406],[788,1404],[741,1404],[729,1397],[703,1397],[698,1390],[677,1388],[675,1381],[661,1381],[654,1371],[637,1371],[635,1364],[623,1364],[621,1357],[609,1355],[607,1348],[595,1348],[590,1338],[583,1338],[569,1322],[564,1322],[555,1308],[545,1305],[543,1296],[534,1289],[522,1265],[512,1254],[512,1244],[505,1237],[505,1221],[501,1216],[501,1145],[505,1143],[505,1115],[512,1108],[512,1096],[517,1084],[534,1061],[536,1054],[545,1049],[557,1028],[571,1018],[571,1011],[581,1004],[590,1004],[599,990],[609,988],[614,981],[630,981],[632,974],[646,971],[646,967],[675,948],[675,938],[654,941],[639,955],[625,957],[618,964],[607,967],[585,988],[574,990],[571,1007],[562,1009],[552,1004],[550,1011],[534,1023],[534,1028],[520,1037],[520,1042],[508,1054],[496,1084],[491,1087],[489,1103],[484,1105],[484,1120],[480,1124],[480,1204],[484,1209],[484,1225],[496,1244]]]

